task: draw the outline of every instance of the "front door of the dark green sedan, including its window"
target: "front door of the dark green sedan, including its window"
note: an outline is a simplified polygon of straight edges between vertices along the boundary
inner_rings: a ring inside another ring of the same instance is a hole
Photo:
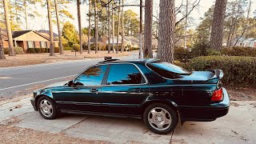
[[[65,86],[61,92],[62,110],[82,112],[100,112],[101,98],[98,93],[102,90],[102,79],[107,65],[91,66],[74,79],[72,86]]]

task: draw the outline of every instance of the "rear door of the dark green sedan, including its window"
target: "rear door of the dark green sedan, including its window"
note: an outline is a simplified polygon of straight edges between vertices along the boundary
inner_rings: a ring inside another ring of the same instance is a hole
[[[148,97],[149,86],[137,66],[130,63],[110,64],[102,86],[102,107],[105,113],[140,115],[140,106]]]

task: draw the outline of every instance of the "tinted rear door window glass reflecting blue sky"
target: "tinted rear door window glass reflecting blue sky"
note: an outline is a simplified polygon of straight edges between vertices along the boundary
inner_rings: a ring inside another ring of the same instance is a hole
[[[112,64],[107,78],[107,85],[141,84],[145,79],[132,64]]]

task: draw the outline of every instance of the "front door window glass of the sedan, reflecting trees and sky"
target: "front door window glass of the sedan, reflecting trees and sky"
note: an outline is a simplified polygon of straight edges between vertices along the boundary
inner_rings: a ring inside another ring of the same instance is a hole
[[[92,66],[85,70],[75,79],[76,86],[98,86],[102,84],[102,79],[106,72],[106,65]]]

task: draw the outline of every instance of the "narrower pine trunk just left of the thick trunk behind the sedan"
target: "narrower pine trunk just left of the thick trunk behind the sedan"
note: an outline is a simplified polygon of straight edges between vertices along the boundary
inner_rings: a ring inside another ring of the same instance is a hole
[[[152,54],[152,18],[153,0],[145,1],[144,58],[153,58]]]

